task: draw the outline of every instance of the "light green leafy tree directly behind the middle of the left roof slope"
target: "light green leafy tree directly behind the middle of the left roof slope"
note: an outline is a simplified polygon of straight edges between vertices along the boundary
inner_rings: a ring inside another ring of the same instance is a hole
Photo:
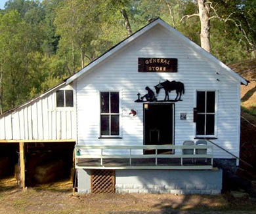
[[[104,1],[65,0],[56,8],[54,24],[60,36],[59,52],[66,60],[66,68],[72,74],[102,53],[109,41],[101,29],[101,4]],[[75,14],[75,16],[74,16]],[[80,64],[79,64],[80,63]]]

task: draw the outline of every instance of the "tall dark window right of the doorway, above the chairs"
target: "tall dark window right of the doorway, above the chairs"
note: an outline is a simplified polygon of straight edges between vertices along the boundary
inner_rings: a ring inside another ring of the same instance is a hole
[[[196,135],[215,134],[215,92],[196,92]]]

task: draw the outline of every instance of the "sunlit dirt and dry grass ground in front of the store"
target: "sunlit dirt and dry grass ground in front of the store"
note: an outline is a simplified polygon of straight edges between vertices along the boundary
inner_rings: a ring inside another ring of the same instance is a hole
[[[72,183],[61,181],[20,190],[14,178],[0,180],[0,213],[256,213],[256,202],[219,196],[174,194],[72,194]]]

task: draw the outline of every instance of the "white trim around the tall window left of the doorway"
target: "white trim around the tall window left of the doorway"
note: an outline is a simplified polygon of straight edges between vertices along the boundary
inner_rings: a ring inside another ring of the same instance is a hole
[[[116,93],[118,93],[118,96],[119,96],[119,113],[101,113],[100,112],[100,116],[101,115],[119,115],[119,135],[102,135],[101,134],[101,117],[99,117],[99,124],[100,124],[100,126],[99,126],[99,134],[100,134],[100,137],[99,138],[110,138],[110,139],[112,139],[112,138],[115,138],[115,137],[117,137],[117,138],[121,138],[121,93],[120,93],[120,91],[118,91],[118,90],[101,90],[100,92],[98,92],[98,98],[99,98],[99,102],[98,103],[100,103],[100,93],[102,93],[102,92],[108,92],[109,93],[109,95],[110,95],[110,93],[111,92],[116,92]],[[109,96],[109,105],[111,105],[111,103],[110,103],[110,96]],[[109,108],[110,109],[110,108]],[[100,111],[101,111],[101,104],[100,104]],[[111,116],[110,116],[110,134],[111,134]]]

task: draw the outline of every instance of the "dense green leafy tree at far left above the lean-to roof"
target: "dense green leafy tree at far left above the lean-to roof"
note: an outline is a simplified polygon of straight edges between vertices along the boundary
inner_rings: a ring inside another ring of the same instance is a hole
[[[25,22],[16,10],[1,16],[0,110],[15,107],[29,99],[32,88],[41,92],[45,74],[38,69],[41,65],[38,58],[43,56],[38,45],[39,38],[33,25]]]

